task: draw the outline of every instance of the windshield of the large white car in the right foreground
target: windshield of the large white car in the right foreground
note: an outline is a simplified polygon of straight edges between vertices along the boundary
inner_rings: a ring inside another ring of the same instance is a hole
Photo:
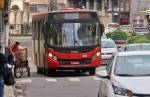
[[[147,76],[150,75],[150,55],[119,56],[117,58],[115,75]]]

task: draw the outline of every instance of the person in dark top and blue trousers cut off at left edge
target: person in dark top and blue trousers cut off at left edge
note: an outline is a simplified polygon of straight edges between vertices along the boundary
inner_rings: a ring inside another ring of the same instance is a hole
[[[1,51],[1,45],[0,45],[0,51]],[[4,66],[7,63],[6,56],[0,52],[0,97],[4,96]]]

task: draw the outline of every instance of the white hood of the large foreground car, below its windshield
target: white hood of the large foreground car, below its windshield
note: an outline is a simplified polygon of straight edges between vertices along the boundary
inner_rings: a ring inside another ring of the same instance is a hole
[[[135,94],[150,94],[150,76],[145,77],[112,77],[114,85],[128,89]]]

